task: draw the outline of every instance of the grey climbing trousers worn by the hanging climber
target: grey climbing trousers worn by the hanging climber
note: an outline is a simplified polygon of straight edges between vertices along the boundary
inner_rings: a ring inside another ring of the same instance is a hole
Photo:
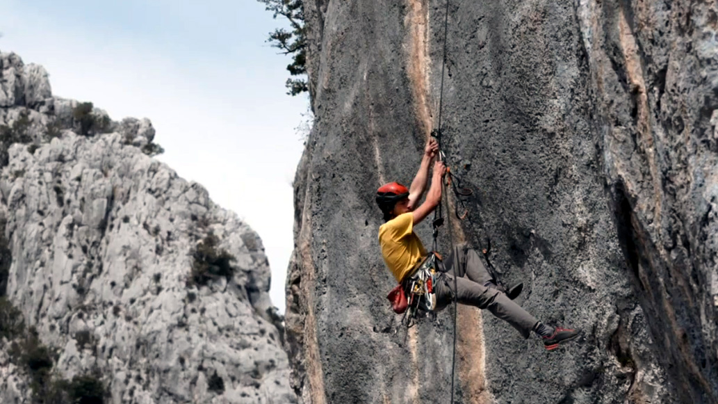
[[[434,287],[437,310],[452,303],[456,276],[458,303],[488,309],[494,316],[511,324],[524,338],[531,334],[538,320],[504,293],[484,286],[493,279],[475,249],[465,244],[455,246],[449,257],[439,264],[439,269],[446,272],[440,275]]]

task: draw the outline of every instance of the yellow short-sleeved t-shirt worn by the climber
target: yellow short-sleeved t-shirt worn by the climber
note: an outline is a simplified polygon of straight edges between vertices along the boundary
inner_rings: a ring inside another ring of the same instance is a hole
[[[414,233],[411,212],[396,216],[379,226],[379,245],[386,266],[398,282],[426,256],[424,244]]]

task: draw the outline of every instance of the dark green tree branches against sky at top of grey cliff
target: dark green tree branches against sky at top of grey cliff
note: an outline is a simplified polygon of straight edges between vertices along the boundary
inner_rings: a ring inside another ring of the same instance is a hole
[[[304,27],[304,4],[302,0],[257,0],[266,6],[267,11],[274,13],[274,18],[286,18],[291,30],[277,28],[269,34],[273,47],[282,50],[284,55],[292,55],[292,64],[286,66],[292,76],[307,73],[307,35]],[[304,78],[286,79],[288,94],[296,96],[308,91],[307,80]]]

